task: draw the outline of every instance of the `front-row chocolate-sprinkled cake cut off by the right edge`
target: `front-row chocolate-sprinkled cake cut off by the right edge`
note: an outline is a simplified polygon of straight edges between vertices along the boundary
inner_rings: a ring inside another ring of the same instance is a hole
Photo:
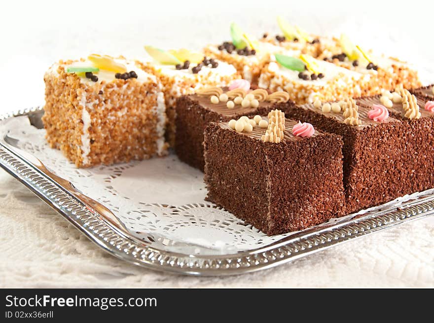
[[[390,114],[402,120],[408,128],[407,132],[401,135],[404,143],[401,144],[400,151],[402,158],[405,159],[400,176],[406,188],[404,193],[434,187],[434,111],[426,109],[427,102],[434,100],[434,95],[431,95],[430,99],[430,91],[429,87],[411,91],[416,95],[415,103],[418,106],[414,111],[404,111],[402,102],[399,101],[393,102],[392,107],[388,108]],[[367,108],[374,104],[382,104],[380,96],[361,98],[358,102]]]

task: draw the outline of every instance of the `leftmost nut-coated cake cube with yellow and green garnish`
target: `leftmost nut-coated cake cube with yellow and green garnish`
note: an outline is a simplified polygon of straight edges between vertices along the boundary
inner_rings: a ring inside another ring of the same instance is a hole
[[[93,54],[54,64],[44,81],[46,139],[77,167],[167,153],[162,89],[137,62]]]

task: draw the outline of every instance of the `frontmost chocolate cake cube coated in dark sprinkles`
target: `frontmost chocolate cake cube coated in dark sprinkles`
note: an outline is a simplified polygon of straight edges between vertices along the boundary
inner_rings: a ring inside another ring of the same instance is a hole
[[[297,121],[287,119],[279,143],[263,142],[267,129],[238,132],[231,123],[213,122],[205,130],[210,201],[267,235],[345,214],[340,136],[312,127],[311,137],[296,137]]]

